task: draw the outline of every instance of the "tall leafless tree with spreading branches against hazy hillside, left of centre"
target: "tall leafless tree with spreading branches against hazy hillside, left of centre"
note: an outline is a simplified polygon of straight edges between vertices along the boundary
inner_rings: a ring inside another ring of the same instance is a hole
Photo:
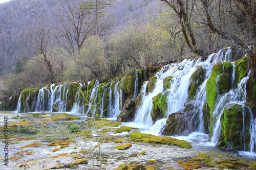
[[[104,21],[100,19],[106,5],[104,1],[96,1],[96,4],[92,0],[59,1],[57,23],[53,25],[59,44],[71,56],[76,56],[90,35],[103,36],[113,25],[111,17],[104,18]]]

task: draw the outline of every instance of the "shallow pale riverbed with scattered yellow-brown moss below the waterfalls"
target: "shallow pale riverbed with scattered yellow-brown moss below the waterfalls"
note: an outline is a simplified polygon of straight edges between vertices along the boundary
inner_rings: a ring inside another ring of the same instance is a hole
[[[39,115],[53,117],[55,114],[59,113]],[[84,116],[72,113],[68,115],[79,118],[63,120],[64,122],[80,126],[83,124]],[[40,116],[34,115],[33,118],[37,119]],[[25,127],[30,117],[30,113],[0,112],[0,169],[115,169],[121,164],[128,164],[132,169],[185,169],[182,161],[199,162],[199,169],[220,169],[220,161],[224,160],[234,162],[232,169],[256,169],[255,153],[219,150],[207,142],[207,134],[193,133],[190,136],[177,137],[192,142],[193,148],[185,149],[174,145],[130,140],[129,134],[133,131],[150,133],[150,129],[138,127],[130,132],[115,133],[114,130],[121,126],[136,128],[134,124],[123,123],[118,127],[93,128],[90,131],[91,137],[73,133],[69,139],[62,140],[58,137],[59,134],[36,134],[29,131]],[[103,132],[104,129],[107,130]],[[5,130],[8,130],[8,133],[5,134]],[[122,142],[115,143],[116,139]],[[58,142],[62,142],[62,145],[58,145]],[[66,147],[62,148],[64,142]],[[131,147],[127,150],[113,149],[119,144],[130,144]],[[58,151],[53,152],[54,149]],[[209,160],[208,164],[219,163],[206,166],[206,158]],[[202,161],[203,159],[205,160]],[[177,163],[179,161],[181,163]],[[237,165],[236,162],[244,164]]]

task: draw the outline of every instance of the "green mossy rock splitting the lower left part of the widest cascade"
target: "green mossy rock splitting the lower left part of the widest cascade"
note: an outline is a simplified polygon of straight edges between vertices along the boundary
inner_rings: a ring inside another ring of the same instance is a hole
[[[156,122],[157,119],[166,117],[167,112],[167,96],[168,92],[159,93],[153,98],[153,108],[152,108],[152,120]]]

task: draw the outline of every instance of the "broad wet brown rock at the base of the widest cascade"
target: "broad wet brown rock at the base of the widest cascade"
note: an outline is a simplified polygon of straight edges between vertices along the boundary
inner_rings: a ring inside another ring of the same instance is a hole
[[[191,116],[187,113],[177,112],[168,116],[166,125],[162,131],[162,135],[188,135],[189,134],[189,119]]]

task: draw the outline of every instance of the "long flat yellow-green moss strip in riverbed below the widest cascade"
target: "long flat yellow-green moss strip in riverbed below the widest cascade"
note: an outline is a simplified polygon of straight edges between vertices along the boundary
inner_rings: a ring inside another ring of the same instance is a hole
[[[178,140],[172,137],[160,137],[160,136],[155,136],[155,135],[145,134],[140,132],[131,133],[130,139],[135,141],[149,142],[149,143],[177,145],[178,147],[186,148],[186,149],[192,148],[191,143],[185,140]]]

